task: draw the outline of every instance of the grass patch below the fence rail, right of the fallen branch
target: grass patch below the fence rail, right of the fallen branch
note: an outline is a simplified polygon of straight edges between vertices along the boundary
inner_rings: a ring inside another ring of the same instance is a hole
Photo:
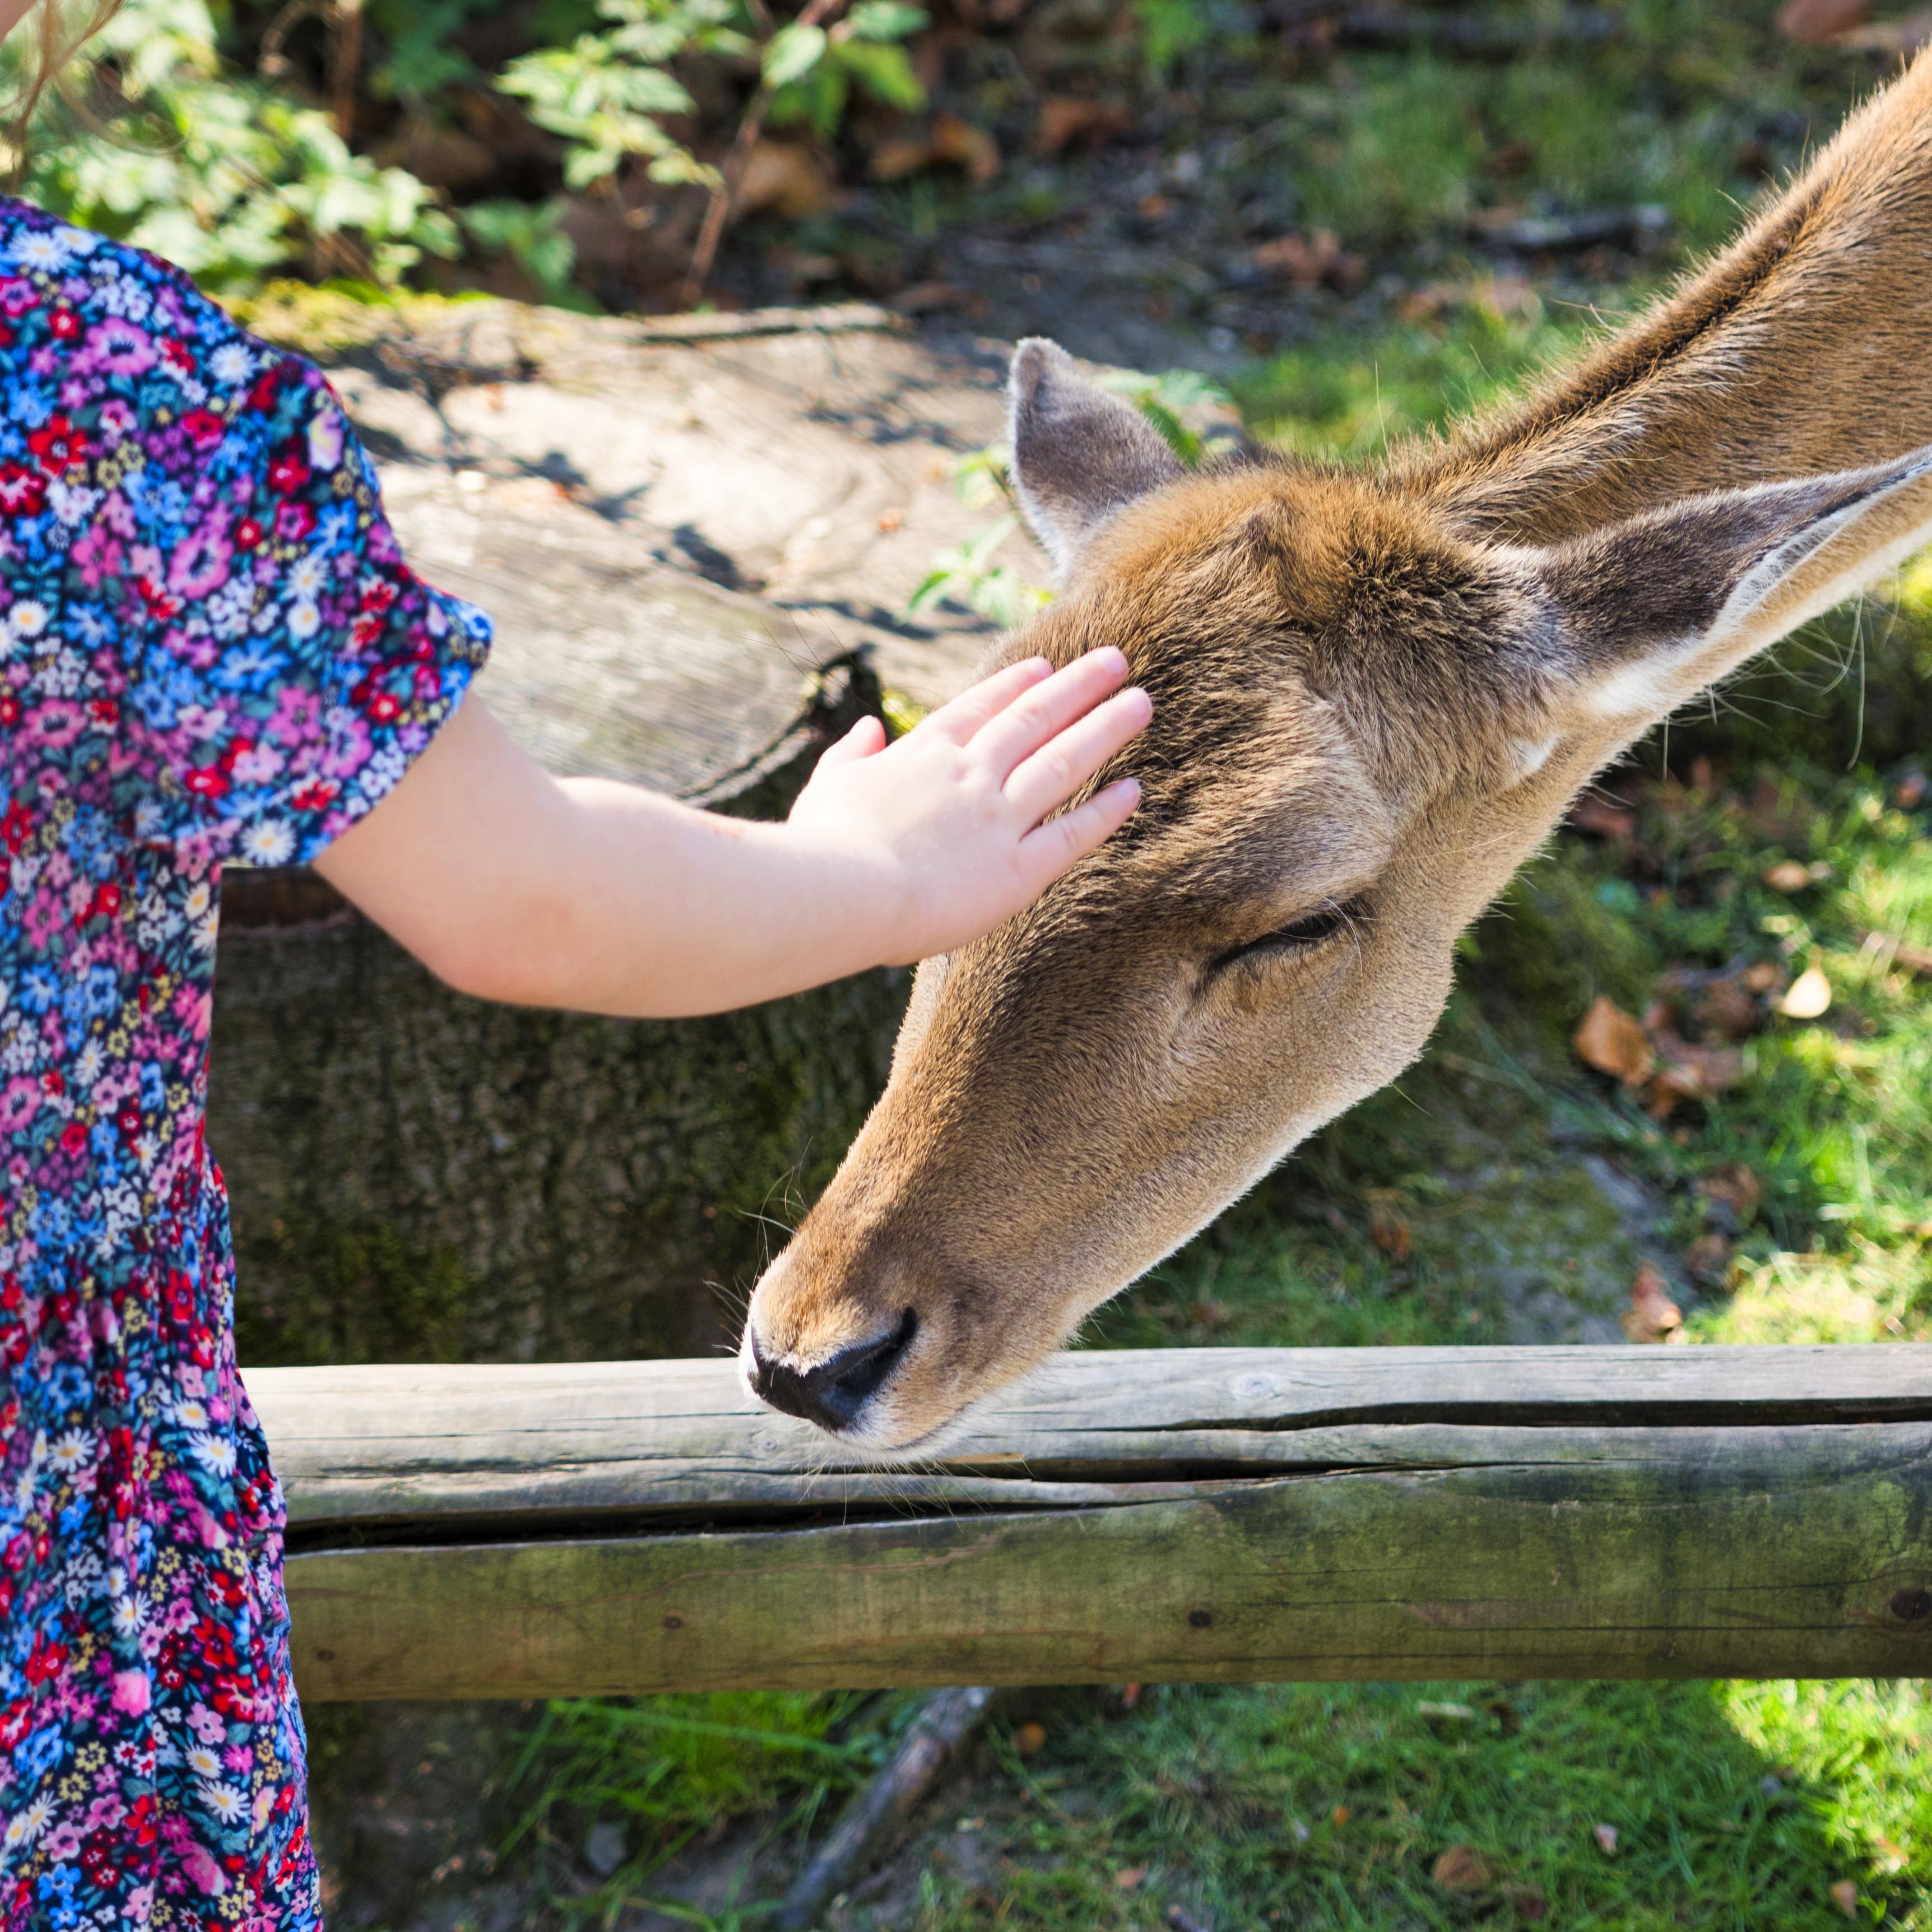
[[[1851,1884],[1917,1928],[1926,1727],[1911,1687],[1175,1687],[1009,1756],[999,1886],[935,1872],[916,1924],[1824,1932]]]

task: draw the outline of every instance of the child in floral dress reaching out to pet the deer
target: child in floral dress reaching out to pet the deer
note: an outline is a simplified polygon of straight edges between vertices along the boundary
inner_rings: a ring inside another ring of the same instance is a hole
[[[0,1926],[319,1922],[203,1142],[224,862],[487,999],[690,1014],[960,945],[1134,808],[1059,811],[1148,719],[1119,651],[867,721],[748,825],[547,777],[464,701],[489,636],[313,367],[0,201]]]

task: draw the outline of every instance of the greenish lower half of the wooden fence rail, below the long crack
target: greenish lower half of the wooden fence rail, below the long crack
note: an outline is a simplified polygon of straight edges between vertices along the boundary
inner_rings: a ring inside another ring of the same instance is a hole
[[[1662,1466],[298,1555],[296,1671],[371,1698],[1932,1669],[1932,1426],[1696,1434]]]

